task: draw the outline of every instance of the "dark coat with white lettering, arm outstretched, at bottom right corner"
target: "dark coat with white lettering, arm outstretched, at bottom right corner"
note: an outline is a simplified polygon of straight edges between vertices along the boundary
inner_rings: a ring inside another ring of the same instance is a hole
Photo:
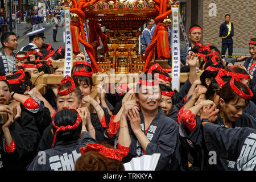
[[[230,129],[205,123],[205,144],[221,158],[236,161],[237,170],[256,171],[256,130],[249,127]]]

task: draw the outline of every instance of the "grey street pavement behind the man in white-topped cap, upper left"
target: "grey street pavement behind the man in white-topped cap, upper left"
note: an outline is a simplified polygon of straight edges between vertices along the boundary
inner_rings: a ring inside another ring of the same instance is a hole
[[[57,42],[53,42],[53,30],[51,24],[46,24],[46,22],[42,23],[42,26],[46,28],[44,30],[44,39],[45,43],[51,44],[53,49],[58,49],[60,46],[63,48],[65,46],[65,43],[63,42],[63,27],[58,27],[56,40]],[[26,22],[17,23],[17,40],[18,40],[18,48],[14,51],[15,53],[19,51],[20,48],[27,46],[29,43],[28,36],[26,34],[28,32],[32,31],[32,27],[28,27]],[[13,32],[15,33],[15,28],[13,29]],[[0,51],[2,49],[2,45],[0,46]]]

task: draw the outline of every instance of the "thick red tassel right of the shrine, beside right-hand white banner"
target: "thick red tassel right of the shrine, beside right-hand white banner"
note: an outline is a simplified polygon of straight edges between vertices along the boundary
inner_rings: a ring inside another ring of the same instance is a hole
[[[158,38],[157,43],[157,51],[158,58],[160,59],[170,59],[170,50],[169,50],[169,42],[168,42],[168,29],[165,26],[160,26],[158,29],[158,34],[156,35]]]

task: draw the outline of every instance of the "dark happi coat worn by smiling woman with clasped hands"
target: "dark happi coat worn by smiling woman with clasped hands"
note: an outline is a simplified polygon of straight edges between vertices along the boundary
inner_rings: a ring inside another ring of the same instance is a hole
[[[139,114],[141,116],[142,131],[145,132],[144,117],[141,111]],[[148,140],[150,140],[150,143],[148,143],[146,151],[143,151],[140,147],[135,134],[131,130],[130,122],[128,122],[128,125],[131,144],[129,146],[129,153],[125,156],[125,158],[123,158],[123,163],[129,162],[132,158],[142,156],[143,154],[152,155],[155,153],[160,153],[161,155],[158,161],[158,165],[156,166],[156,170],[168,169],[169,160],[174,154],[177,143],[177,122],[171,118],[166,117],[162,109],[159,107],[158,114],[156,114],[155,118],[152,120],[150,126],[148,127],[146,137]],[[137,144],[139,146],[137,146]]]

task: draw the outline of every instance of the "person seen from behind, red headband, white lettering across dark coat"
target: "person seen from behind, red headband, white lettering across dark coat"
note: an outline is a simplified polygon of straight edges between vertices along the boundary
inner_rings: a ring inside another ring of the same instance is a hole
[[[63,109],[52,118],[52,148],[40,151],[28,171],[73,171],[76,159],[81,156],[80,148],[87,143],[97,143],[87,132],[80,110]],[[42,155],[45,163],[39,163]],[[63,160],[55,160],[63,158]]]

